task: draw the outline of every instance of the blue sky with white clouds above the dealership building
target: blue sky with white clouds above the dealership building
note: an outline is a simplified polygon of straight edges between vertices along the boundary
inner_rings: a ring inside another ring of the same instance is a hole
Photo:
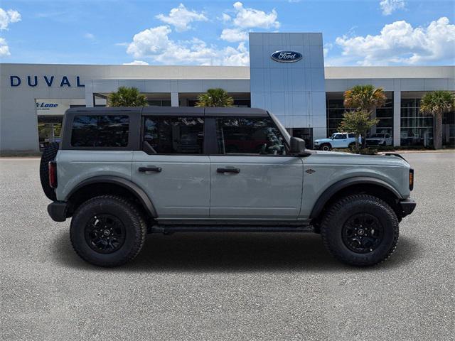
[[[248,32],[322,32],[326,66],[454,65],[455,1],[0,1],[1,63],[239,65]]]

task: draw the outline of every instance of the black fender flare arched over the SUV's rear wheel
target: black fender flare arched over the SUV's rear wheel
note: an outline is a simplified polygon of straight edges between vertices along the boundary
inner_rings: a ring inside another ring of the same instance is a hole
[[[68,193],[68,195],[65,197],[65,201],[70,201],[71,196],[76,193],[77,190],[95,183],[113,183],[115,185],[122,186],[123,188],[129,190],[129,192],[131,192],[135,197],[137,197],[139,202],[141,202],[141,205],[144,207],[146,212],[151,215],[151,217],[158,217],[153,202],[150,200],[149,196],[146,195],[142,188],[130,180],[114,175],[100,175],[82,180],[75,186],[75,188],[73,188],[73,190],[70,191],[70,193]]]

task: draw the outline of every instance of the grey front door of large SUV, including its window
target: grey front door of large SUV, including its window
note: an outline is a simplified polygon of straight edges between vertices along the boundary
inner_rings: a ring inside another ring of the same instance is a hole
[[[272,119],[215,120],[218,155],[210,156],[210,218],[296,220],[303,162],[287,155]]]

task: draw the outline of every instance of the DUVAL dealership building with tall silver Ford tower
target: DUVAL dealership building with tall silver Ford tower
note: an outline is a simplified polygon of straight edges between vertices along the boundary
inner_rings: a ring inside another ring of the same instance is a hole
[[[250,33],[250,67],[0,64],[0,151],[38,151],[60,138],[65,110],[105,106],[120,86],[137,87],[149,105],[191,107],[221,87],[242,107],[273,112],[307,141],[336,131],[343,92],[382,87],[385,106],[372,133],[395,146],[429,146],[433,119],[419,113],[426,92],[455,92],[455,67],[324,67],[321,33]],[[444,115],[443,145],[455,144],[455,113]]]

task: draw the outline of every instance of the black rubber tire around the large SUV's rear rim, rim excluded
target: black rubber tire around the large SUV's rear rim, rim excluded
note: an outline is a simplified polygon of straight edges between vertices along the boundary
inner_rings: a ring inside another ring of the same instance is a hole
[[[95,215],[112,215],[125,229],[124,243],[109,254],[102,254],[90,247],[85,238],[85,227]],[[134,259],[141,251],[147,227],[144,215],[129,200],[115,195],[93,197],[77,207],[71,220],[70,239],[75,252],[85,261],[97,266],[119,266]]]

